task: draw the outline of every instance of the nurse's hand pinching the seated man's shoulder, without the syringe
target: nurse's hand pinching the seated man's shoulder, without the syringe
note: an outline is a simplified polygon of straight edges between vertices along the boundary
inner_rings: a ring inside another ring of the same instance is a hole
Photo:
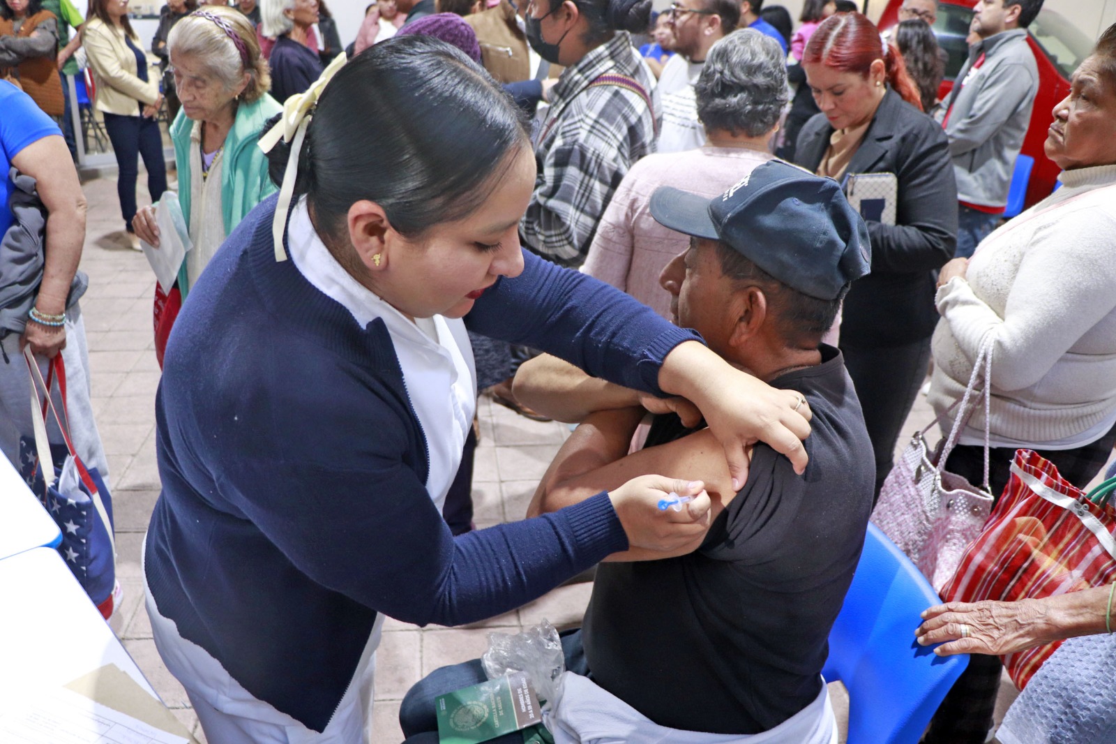
[[[777,390],[741,372],[696,341],[679,344],[658,371],[663,392],[693,402],[705,417],[710,431],[724,448],[732,485],[739,490],[748,480],[747,449],[757,441],[782,452],[806,471],[810,436],[810,404],[793,390]]]

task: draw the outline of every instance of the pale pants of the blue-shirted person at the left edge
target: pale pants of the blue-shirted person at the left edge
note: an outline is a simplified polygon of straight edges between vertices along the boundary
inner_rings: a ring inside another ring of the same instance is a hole
[[[19,349],[19,336],[9,334],[2,342],[6,363],[0,355],[0,451],[19,467],[19,440],[21,437],[33,438],[31,428],[31,407],[28,388],[31,375],[23,363],[23,353]],[[108,460],[105,448],[100,443],[97,423],[93,420],[93,401],[89,393],[89,351],[85,341],[85,323],[77,305],[66,311],[66,349],[61,351],[66,365],[66,399],[67,418],[74,447],[86,467],[97,468],[105,485],[108,481]],[[39,359],[42,379],[47,379],[47,359]],[[61,414],[61,395],[57,383],[51,388],[55,406]],[[61,432],[54,417],[47,413],[47,437],[51,445],[64,442]]]

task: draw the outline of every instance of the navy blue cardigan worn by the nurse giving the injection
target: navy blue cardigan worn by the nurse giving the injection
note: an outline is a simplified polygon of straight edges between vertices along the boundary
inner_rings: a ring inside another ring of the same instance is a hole
[[[238,226],[174,326],[156,397],[158,610],[246,689],[321,731],[377,612],[446,626],[519,607],[627,538],[607,495],[454,538],[382,321],[360,327],[271,245],[276,197]],[[696,336],[525,251],[470,326],[660,392]]]

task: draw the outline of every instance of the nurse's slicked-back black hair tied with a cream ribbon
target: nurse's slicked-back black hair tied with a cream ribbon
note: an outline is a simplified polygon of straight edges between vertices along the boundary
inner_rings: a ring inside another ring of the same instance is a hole
[[[520,146],[530,146],[527,124],[488,73],[444,41],[400,36],[354,57],[326,86],[302,143],[295,199],[308,194],[315,227],[333,238],[327,245],[348,246],[348,210],[362,200],[416,236],[480,206]],[[268,155],[276,184],[289,156],[283,142]]]

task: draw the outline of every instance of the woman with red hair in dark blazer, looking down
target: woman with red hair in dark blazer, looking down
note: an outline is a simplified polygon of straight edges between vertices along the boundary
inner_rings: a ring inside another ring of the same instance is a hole
[[[862,207],[872,273],[845,298],[839,344],[872,437],[878,494],[926,376],[934,275],[956,246],[956,182],[945,134],[922,113],[903,56],[863,15],[827,18],[806,45],[802,68],[821,113],[802,127],[795,162],[845,184],[864,173],[895,177],[875,180],[894,193],[894,218],[878,202]]]

